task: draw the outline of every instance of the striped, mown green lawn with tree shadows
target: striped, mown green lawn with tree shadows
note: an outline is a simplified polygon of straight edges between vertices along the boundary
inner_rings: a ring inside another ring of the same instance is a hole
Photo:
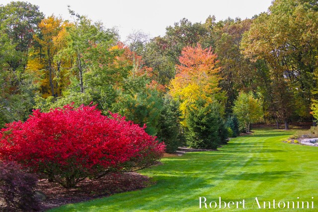
[[[163,165],[141,171],[157,181],[154,186],[50,212],[259,211],[250,209],[255,197],[260,204],[273,199],[296,202],[297,197],[310,202],[314,197],[318,208],[318,147],[281,142],[293,133],[257,130],[252,136],[231,140],[219,151],[163,158]],[[241,205],[239,210],[199,209],[199,197],[208,203],[218,202],[219,197],[225,202],[244,199],[247,209]]]

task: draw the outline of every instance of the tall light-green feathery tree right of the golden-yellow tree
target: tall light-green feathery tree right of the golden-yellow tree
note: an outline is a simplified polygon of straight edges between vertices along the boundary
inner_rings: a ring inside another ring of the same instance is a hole
[[[72,62],[69,71],[76,77],[71,78],[69,90],[65,92],[68,100],[88,104],[94,100],[94,87],[99,86],[102,80],[107,86],[107,82],[113,81],[116,75],[115,70],[109,69],[107,65],[112,64],[120,52],[116,49],[110,51],[116,44],[117,34],[112,29],[105,29],[100,22],[92,23],[72,10],[70,13],[75,20],[67,28],[67,47],[60,50],[56,58]]]

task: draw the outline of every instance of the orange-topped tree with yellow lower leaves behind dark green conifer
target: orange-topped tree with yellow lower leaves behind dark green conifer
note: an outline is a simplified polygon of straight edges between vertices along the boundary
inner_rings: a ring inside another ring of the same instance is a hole
[[[216,68],[217,55],[211,48],[202,49],[185,47],[179,58],[181,65],[176,65],[177,73],[170,81],[170,94],[180,101],[180,110],[186,116],[188,107],[192,107],[198,99],[207,103],[224,98],[218,87],[220,68]],[[224,100],[224,99],[223,99]]]

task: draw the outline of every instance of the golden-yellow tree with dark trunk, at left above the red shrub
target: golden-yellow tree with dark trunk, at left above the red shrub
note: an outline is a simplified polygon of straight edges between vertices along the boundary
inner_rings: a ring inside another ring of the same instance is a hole
[[[63,79],[66,74],[63,68],[71,66],[70,59],[61,60],[57,58],[57,54],[66,47],[67,27],[71,26],[72,24],[62,18],[52,15],[39,23],[39,32],[34,35],[36,45],[30,53],[28,70],[38,74],[44,98],[48,95],[60,96],[62,85],[67,83],[66,79]]]

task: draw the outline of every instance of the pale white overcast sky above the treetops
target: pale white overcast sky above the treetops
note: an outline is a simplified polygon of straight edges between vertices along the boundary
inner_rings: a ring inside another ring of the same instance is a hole
[[[7,4],[11,0],[0,0]],[[100,20],[107,28],[116,26],[121,40],[133,30],[141,30],[151,37],[164,35],[165,27],[182,18],[191,22],[204,22],[209,15],[217,21],[228,17],[251,18],[267,11],[271,0],[28,0],[40,6],[49,16],[61,15],[70,19],[67,5],[80,15]]]

